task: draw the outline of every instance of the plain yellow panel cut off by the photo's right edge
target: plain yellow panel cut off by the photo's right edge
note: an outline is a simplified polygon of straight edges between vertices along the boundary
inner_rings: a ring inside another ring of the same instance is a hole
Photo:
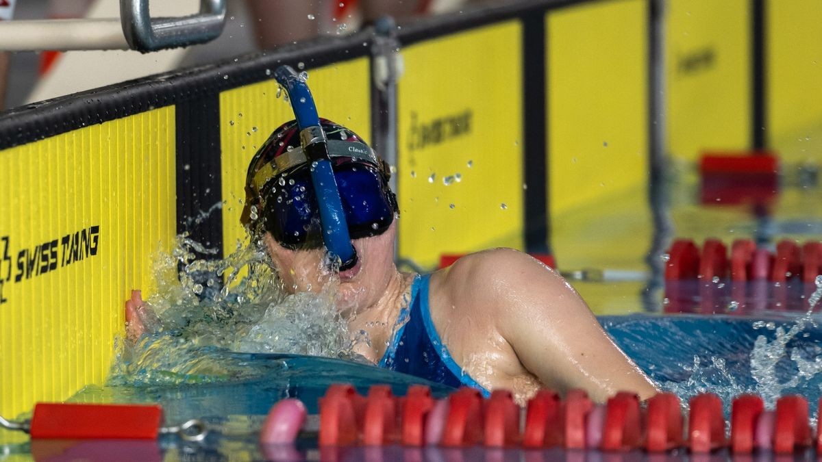
[[[769,145],[783,159],[820,163],[822,2],[765,2]]]

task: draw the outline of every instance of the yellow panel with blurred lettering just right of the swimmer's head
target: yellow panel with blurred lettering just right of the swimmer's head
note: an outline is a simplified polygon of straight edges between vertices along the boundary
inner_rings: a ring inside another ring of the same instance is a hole
[[[403,49],[400,256],[522,247],[521,35],[508,21]]]

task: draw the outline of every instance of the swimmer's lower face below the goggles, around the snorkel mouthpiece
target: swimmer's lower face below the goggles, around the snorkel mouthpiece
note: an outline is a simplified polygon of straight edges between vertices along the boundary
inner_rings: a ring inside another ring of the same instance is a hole
[[[372,306],[386,293],[391,278],[396,275],[396,226],[395,219],[385,233],[354,239],[358,266],[339,275],[331,274],[325,267],[325,249],[291,250],[281,246],[270,233],[266,233],[264,241],[287,291],[320,292],[326,284],[339,280],[337,307],[346,315]]]

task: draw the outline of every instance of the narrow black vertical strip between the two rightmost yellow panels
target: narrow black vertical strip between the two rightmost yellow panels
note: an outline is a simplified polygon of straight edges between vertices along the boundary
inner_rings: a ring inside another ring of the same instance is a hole
[[[767,114],[767,67],[765,58],[765,35],[767,34],[767,15],[765,0],[751,0],[750,2],[750,63],[751,63],[751,120],[750,127],[751,147],[753,149],[767,149],[768,123]]]

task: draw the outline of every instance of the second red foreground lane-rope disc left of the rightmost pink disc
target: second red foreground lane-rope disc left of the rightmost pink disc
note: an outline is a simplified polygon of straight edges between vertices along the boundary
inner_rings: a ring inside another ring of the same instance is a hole
[[[688,444],[695,453],[708,453],[725,446],[725,419],[722,400],[717,395],[704,393],[691,398]]]

